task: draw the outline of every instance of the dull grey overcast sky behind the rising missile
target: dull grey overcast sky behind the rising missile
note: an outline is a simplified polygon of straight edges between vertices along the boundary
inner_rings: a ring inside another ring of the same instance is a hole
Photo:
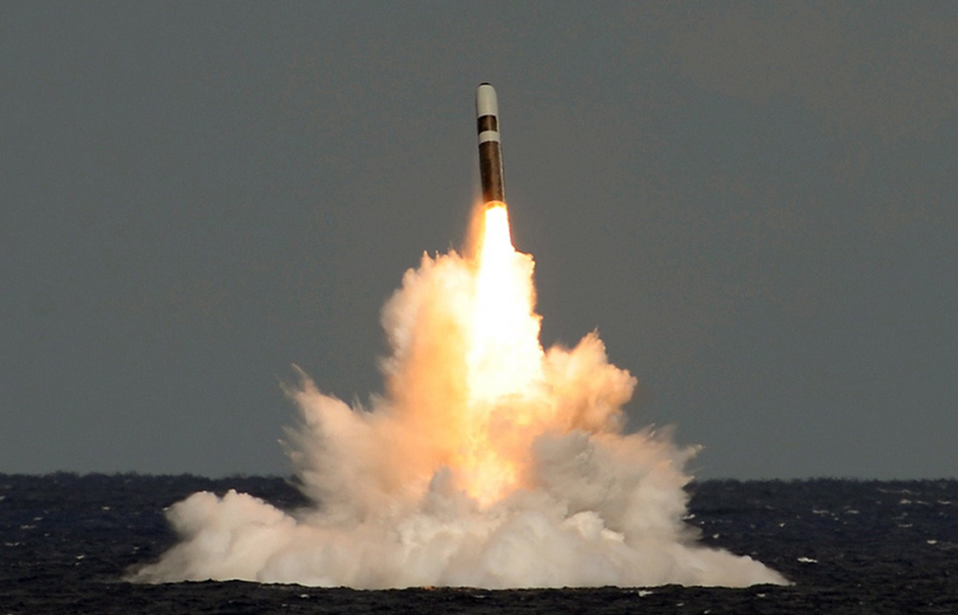
[[[703,477],[958,460],[958,5],[6,2],[0,471],[286,473],[499,95],[543,343]]]

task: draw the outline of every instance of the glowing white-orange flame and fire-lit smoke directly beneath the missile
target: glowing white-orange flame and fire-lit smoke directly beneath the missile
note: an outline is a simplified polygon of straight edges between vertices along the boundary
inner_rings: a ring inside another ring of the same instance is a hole
[[[618,430],[635,381],[608,364],[595,333],[544,352],[535,262],[513,247],[506,204],[486,203],[472,228],[468,258],[423,255],[384,308],[388,412],[368,421],[395,455],[384,489],[422,493],[448,467],[452,485],[489,506],[538,487],[541,436]],[[394,419],[401,437],[387,428]]]

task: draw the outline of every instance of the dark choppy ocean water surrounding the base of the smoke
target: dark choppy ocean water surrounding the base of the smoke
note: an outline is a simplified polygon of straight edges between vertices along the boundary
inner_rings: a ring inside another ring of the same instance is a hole
[[[282,478],[0,474],[0,615],[43,613],[958,613],[958,481],[704,481],[706,544],[794,585],[356,591],[250,582],[140,585],[173,543],[163,508],[229,489],[303,504]]]

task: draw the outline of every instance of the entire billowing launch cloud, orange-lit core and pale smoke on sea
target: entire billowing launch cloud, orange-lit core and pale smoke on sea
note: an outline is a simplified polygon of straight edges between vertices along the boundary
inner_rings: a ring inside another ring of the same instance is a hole
[[[503,216],[505,210],[503,210]],[[493,223],[487,220],[487,226]],[[586,335],[538,342],[531,257],[491,237],[424,256],[383,309],[386,393],[351,408],[302,375],[287,453],[314,508],[194,493],[180,542],[133,581],[385,588],[784,583],[696,544],[682,521],[695,447],[622,435],[635,379]],[[501,231],[499,231],[501,236]],[[496,241],[500,245],[496,245]]]

